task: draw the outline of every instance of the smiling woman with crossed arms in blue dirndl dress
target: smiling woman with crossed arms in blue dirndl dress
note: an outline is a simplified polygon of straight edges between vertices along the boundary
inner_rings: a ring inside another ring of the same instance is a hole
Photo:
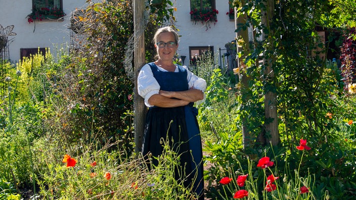
[[[181,167],[188,176],[185,186],[192,186],[199,199],[204,199],[198,112],[193,104],[204,98],[206,81],[186,66],[173,64],[179,36],[171,27],[158,29],[153,40],[158,59],[143,66],[138,76],[139,94],[149,108],[142,154],[161,155],[163,146],[160,141],[168,136],[168,141],[173,140],[170,145],[180,155]],[[157,165],[157,161],[153,164]],[[178,173],[175,176],[181,178]]]

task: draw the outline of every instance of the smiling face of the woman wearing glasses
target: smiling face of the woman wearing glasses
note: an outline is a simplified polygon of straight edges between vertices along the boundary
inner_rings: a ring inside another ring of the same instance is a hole
[[[177,51],[178,44],[175,43],[171,47],[168,47],[169,42],[176,42],[175,37],[173,33],[170,32],[163,32],[158,35],[157,42],[161,42],[161,45],[163,44],[164,47],[159,47],[157,44],[155,44],[159,60],[162,61],[170,61],[172,62],[172,59],[175,55],[175,52]],[[166,44],[164,44],[166,43]]]

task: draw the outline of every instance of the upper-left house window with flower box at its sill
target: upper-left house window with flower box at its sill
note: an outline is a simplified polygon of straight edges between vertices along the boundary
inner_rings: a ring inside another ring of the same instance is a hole
[[[63,16],[63,0],[32,0],[32,19],[59,19]]]

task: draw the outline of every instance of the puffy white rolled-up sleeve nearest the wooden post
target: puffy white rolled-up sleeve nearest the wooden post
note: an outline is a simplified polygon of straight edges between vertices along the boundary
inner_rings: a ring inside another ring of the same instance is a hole
[[[152,70],[148,64],[142,67],[139,76],[137,77],[137,89],[140,94],[145,99],[145,105],[147,107],[152,107],[148,103],[148,99],[153,94],[158,94],[160,86],[153,76]]]

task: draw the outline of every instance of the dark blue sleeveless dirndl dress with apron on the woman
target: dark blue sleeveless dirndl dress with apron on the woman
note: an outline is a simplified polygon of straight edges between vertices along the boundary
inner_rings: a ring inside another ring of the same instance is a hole
[[[149,63],[149,65],[161,90],[185,91],[189,89],[188,73],[182,66],[178,66],[179,72],[163,72],[158,70],[154,63]],[[153,157],[161,155],[163,146],[160,140],[161,138],[165,140],[168,136],[170,146],[177,152],[177,155],[181,155],[181,167],[185,168],[185,174],[188,176],[184,185],[186,187],[191,186],[192,179],[194,179],[193,192],[200,196],[199,199],[204,199],[203,155],[196,118],[198,110],[193,105],[194,103],[174,108],[150,108],[146,117],[142,154],[145,156],[152,153]],[[171,143],[171,139],[174,143]],[[155,159],[152,163],[153,165],[158,164]],[[175,173],[177,180],[180,179],[179,174],[178,172]]]

